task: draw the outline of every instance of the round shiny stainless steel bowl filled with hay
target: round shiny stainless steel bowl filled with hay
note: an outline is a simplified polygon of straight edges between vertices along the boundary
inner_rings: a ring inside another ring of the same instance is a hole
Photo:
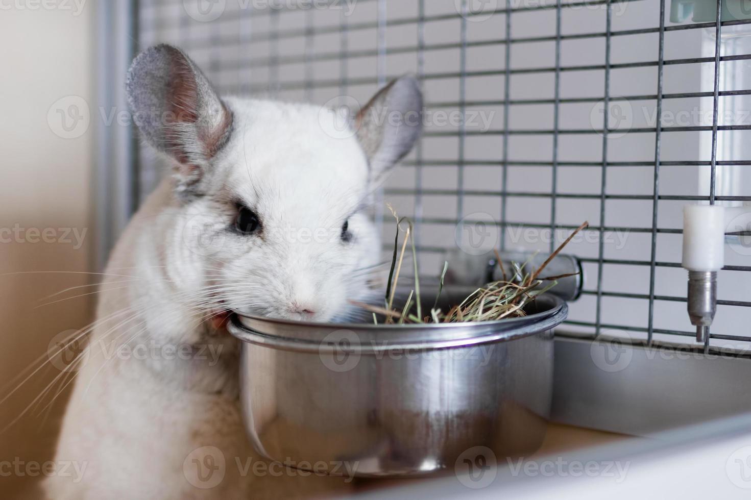
[[[553,327],[568,308],[545,295],[527,312],[437,325],[237,315],[249,438],[269,459],[363,477],[453,471],[478,446],[499,460],[532,453],[550,414]]]

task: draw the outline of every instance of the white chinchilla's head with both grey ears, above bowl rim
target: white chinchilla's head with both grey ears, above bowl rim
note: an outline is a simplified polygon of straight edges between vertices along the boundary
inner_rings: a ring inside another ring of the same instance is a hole
[[[380,255],[366,201],[421,133],[417,82],[394,80],[342,128],[339,110],[222,99],[182,50],[158,45],[134,60],[127,91],[173,164],[155,244],[179,297],[207,314],[347,318]]]

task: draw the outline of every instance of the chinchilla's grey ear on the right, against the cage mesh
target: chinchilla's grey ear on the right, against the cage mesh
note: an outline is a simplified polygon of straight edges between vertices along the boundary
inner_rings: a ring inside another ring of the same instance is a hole
[[[404,158],[422,132],[423,98],[414,77],[393,80],[357,113],[355,127],[373,182]]]

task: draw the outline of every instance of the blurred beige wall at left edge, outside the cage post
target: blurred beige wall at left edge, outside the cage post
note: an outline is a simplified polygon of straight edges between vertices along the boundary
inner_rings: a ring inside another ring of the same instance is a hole
[[[39,479],[33,463],[53,457],[66,393],[53,396],[62,378],[34,402],[61,374],[53,363],[41,363],[47,362],[50,340],[91,321],[90,295],[44,304],[62,297],[46,299],[50,294],[92,281],[86,272],[95,246],[90,227],[93,126],[74,120],[86,115],[81,101],[91,104],[95,116],[93,4],[0,2],[2,498],[28,490]],[[77,288],[65,297],[89,291]],[[25,377],[14,380],[39,366],[23,384]]]

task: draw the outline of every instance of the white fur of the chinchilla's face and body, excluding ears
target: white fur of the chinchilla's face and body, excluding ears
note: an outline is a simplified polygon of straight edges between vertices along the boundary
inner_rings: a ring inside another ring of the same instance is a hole
[[[366,290],[368,273],[358,270],[379,255],[375,228],[357,212],[372,188],[368,163],[356,137],[327,133],[333,115],[318,107],[226,103],[234,128],[213,158],[205,194],[181,200],[175,180],[164,180],[110,258],[92,347],[56,456],[86,462],[86,472],[78,483],[50,477],[50,498],[294,498],[346,491],[339,478],[237,473],[235,457],[258,458],[240,417],[237,342],[207,320],[221,309],[300,318],[303,306],[315,311],[314,321],[347,317],[348,300],[362,299]],[[231,230],[235,201],[258,212],[263,236]],[[347,218],[350,243],[339,237]],[[310,240],[309,230],[328,236]],[[219,285],[214,293],[206,290],[213,285]],[[102,353],[149,340],[209,344],[222,354],[216,362]],[[183,474],[186,457],[203,446],[219,447],[227,462],[225,479],[211,489],[196,488]]]

